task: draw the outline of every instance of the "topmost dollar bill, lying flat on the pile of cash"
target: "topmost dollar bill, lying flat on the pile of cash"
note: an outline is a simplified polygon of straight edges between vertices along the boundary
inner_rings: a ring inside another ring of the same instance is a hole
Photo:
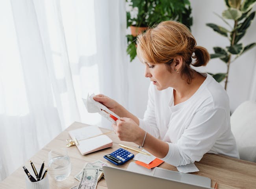
[[[96,189],[98,183],[98,168],[83,169],[82,178],[77,189]]]

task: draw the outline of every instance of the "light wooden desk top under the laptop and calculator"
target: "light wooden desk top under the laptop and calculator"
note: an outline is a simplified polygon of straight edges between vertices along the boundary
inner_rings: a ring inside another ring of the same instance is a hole
[[[53,148],[66,148],[67,144],[66,139],[69,139],[69,134],[67,131],[73,130],[76,128],[81,128],[87,126],[86,124],[74,122],[69,128],[60,133],[55,139],[53,139],[48,145],[43,149],[37,152],[31,160],[35,164],[37,169],[40,168],[41,163],[45,160],[46,166],[48,165],[48,152]],[[102,129],[103,132],[109,132],[109,130]],[[119,143],[122,143],[127,146],[132,146],[136,148],[137,146],[130,142],[120,141],[115,135],[115,133],[110,133],[108,136],[113,140],[113,146],[98,152],[93,152],[82,156],[76,146],[71,146],[66,148],[70,157],[72,164],[72,171],[70,176],[61,182],[57,182],[49,177],[50,188],[51,189],[69,189],[70,187],[77,185],[79,182],[74,179],[76,175],[83,167],[85,162],[93,162],[97,159],[102,161],[107,161],[103,158],[104,155],[117,150],[120,146]],[[130,150],[131,151],[131,150]],[[131,151],[132,152],[132,151]],[[133,154],[137,152],[133,151]],[[130,160],[132,162],[134,160]],[[110,162],[108,162],[110,163]],[[128,167],[129,163],[124,165],[119,165],[116,167],[124,168]],[[24,163],[29,171],[32,171],[29,160]],[[111,164],[115,166],[114,164]],[[243,161],[239,159],[230,158],[227,156],[215,155],[215,154],[205,154],[200,162],[196,162],[195,165],[200,170],[193,174],[200,176],[206,176],[211,179],[211,187],[214,187],[215,183],[218,183],[218,189],[238,189],[238,188],[256,188],[256,163],[249,161]],[[23,165],[22,165],[23,166]],[[8,176],[5,180],[0,183],[1,189],[25,189],[25,173],[22,169],[22,166],[19,167],[13,174]],[[170,170],[177,170],[176,167],[169,165],[167,163],[162,163],[160,167]],[[49,175],[48,175],[49,176]],[[97,185],[97,189],[106,189],[106,182],[102,178]]]

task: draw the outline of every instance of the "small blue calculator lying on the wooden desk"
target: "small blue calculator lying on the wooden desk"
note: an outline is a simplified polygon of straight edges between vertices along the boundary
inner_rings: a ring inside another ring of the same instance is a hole
[[[118,150],[115,150],[115,152],[104,156],[105,159],[108,159],[108,161],[111,161],[115,165],[121,165],[133,157],[134,154],[124,150],[123,148],[119,148]]]

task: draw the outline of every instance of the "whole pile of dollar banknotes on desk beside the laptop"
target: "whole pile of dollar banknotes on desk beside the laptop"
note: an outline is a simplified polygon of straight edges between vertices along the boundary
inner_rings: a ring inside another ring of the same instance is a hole
[[[96,189],[98,181],[104,177],[103,166],[109,165],[101,160],[85,163],[83,169],[74,176],[80,183],[70,189]]]

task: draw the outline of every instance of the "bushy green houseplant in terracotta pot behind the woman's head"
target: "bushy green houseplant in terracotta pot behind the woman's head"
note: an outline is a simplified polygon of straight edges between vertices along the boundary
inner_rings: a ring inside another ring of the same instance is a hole
[[[127,6],[128,5],[128,6]],[[135,30],[132,35],[126,35],[127,54],[130,61],[136,57],[136,36],[165,20],[177,20],[189,29],[192,25],[191,7],[189,0],[126,0],[127,28]]]

